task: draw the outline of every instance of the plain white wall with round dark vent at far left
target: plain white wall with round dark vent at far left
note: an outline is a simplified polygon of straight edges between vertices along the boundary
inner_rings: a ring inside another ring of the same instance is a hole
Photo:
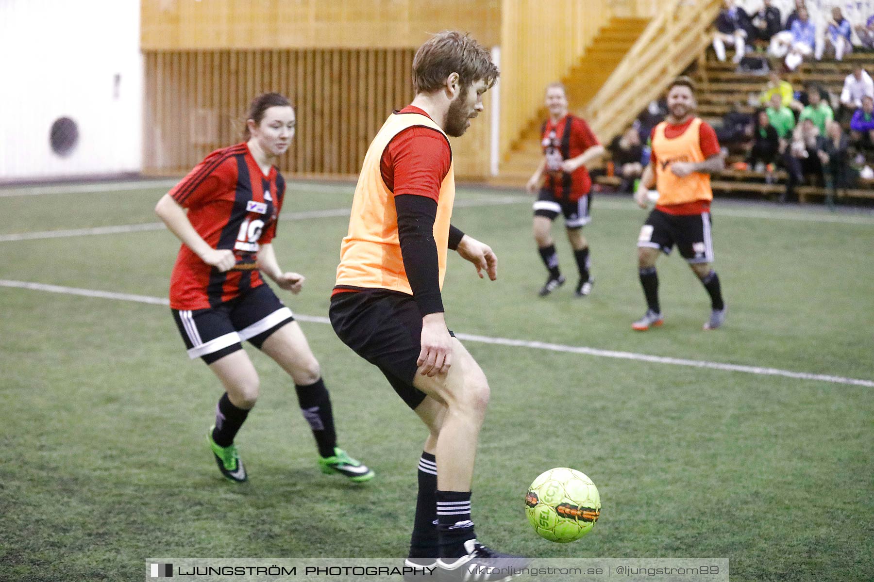
[[[0,55],[0,180],[141,168],[139,0],[0,0]],[[66,157],[49,144],[62,116],[80,135]]]

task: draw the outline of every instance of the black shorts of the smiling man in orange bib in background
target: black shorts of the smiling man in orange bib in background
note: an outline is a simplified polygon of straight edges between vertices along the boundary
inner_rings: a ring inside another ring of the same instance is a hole
[[[654,209],[643,223],[637,246],[661,249],[668,255],[676,244],[689,263],[712,263],[712,223],[710,212],[676,216]]]

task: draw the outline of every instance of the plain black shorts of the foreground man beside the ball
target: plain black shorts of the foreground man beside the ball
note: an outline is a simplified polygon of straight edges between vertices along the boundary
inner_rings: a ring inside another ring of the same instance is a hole
[[[422,315],[413,296],[387,289],[345,291],[330,299],[328,314],[337,337],[377,366],[408,407],[425,400],[413,386],[422,350]]]

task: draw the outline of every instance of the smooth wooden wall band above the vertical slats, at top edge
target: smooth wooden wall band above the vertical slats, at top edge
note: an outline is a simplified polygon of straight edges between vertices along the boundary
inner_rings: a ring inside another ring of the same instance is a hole
[[[414,48],[429,32],[499,42],[501,0],[142,0],[143,51]]]

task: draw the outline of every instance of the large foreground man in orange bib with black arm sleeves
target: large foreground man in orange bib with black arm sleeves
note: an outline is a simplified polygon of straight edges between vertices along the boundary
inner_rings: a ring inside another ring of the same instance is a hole
[[[527,564],[475,537],[470,485],[489,383],[447,329],[440,295],[448,250],[480,277],[497,277],[489,246],[449,223],[447,135],[470,127],[498,74],[489,51],[458,32],[440,32],[416,51],[416,97],[389,116],[364,156],[329,310],[337,336],[378,366],[428,428],[406,566],[436,567],[438,579],[504,579],[503,568]]]

